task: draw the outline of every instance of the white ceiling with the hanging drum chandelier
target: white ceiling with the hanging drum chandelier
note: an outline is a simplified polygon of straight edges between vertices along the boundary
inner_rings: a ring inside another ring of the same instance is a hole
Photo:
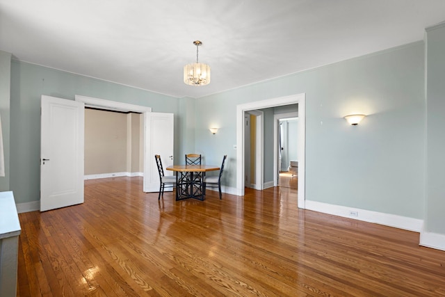
[[[202,97],[423,39],[444,0],[0,0],[0,49],[175,97]],[[211,66],[208,86],[183,67]]]

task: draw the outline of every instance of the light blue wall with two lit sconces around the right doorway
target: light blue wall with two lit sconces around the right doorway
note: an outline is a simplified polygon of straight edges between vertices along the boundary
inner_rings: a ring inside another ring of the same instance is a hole
[[[225,182],[236,187],[236,106],[306,93],[306,199],[423,218],[424,65],[415,42],[199,98],[195,147],[210,163],[229,154]],[[368,116],[352,127],[351,113]]]

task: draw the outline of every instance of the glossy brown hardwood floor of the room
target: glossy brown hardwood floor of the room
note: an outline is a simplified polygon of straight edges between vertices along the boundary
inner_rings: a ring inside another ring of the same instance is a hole
[[[297,209],[293,188],[142,193],[85,182],[85,203],[19,214],[17,296],[445,296],[419,234]]]

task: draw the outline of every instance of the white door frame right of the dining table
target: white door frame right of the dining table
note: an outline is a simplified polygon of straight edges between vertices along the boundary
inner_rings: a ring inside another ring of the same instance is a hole
[[[244,112],[298,104],[298,207],[305,208],[305,93],[236,106],[236,195],[244,195]]]

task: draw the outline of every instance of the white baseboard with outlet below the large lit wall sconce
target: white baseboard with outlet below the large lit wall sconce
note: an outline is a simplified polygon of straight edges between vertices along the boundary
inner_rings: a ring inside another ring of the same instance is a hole
[[[376,223],[414,232],[420,232],[423,225],[423,220],[418,218],[408,218],[406,216],[397,216],[395,214],[384,214],[377,211],[343,207],[311,200],[305,201],[305,209],[323,212],[324,214],[333,214],[334,216],[353,218],[355,220],[363,220],[369,223]]]

